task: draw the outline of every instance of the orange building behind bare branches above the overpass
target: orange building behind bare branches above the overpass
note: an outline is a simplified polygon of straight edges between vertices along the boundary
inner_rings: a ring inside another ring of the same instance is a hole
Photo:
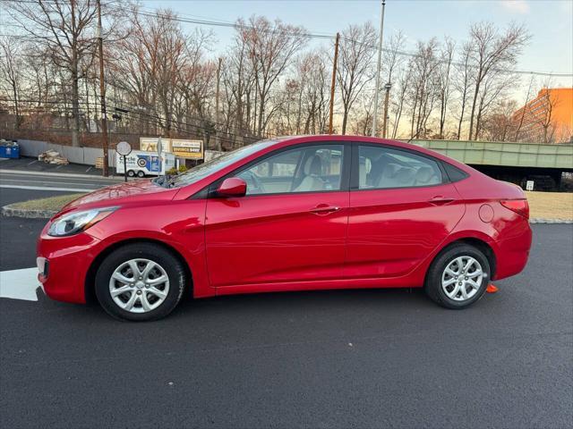
[[[511,119],[518,141],[573,143],[573,88],[543,88]]]

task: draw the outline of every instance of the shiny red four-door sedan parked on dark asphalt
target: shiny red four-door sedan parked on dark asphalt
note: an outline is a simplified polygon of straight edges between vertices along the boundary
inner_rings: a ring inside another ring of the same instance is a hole
[[[99,189],[38,240],[52,299],[97,297],[110,315],[168,315],[195,298],[281,290],[423,287],[468,307],[523,270],[525,195],[398,141],[265,140],[173,178]]]

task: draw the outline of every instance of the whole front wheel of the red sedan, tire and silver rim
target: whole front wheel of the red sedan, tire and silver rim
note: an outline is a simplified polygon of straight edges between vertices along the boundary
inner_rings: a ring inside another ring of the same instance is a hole
[[[184,266],[172,252],[153,243],[115,249],[96,273],[96,296],[101,307],[126,320],[165,317],[179,303],[184,287]]]

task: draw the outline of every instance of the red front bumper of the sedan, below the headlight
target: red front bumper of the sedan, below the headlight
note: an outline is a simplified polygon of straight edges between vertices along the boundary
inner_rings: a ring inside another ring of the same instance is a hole
[[[86,232],[51,237],[47,227],[38,238],[38,281],[51,299],[85,303],[86,275],[98,255],[100,241]]]

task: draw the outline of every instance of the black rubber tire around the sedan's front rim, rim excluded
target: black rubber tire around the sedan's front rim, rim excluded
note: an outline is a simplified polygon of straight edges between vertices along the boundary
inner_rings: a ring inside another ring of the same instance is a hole
[[[160,265],[167,273],[169,280],[167,297],[157,308],[146,313],[132,313],[119,307],[112,299],[109,290],[109,282],[115,269],[131,259],[138,258],[149,259]],[[99,304],[109,315],[122,320],[158,320],[171,313],[181,300],[186,284],[185,269],[179,259],[166,248],[153,243],[133,243],[115,249],[103,260],[98,267],[95,284]]]

